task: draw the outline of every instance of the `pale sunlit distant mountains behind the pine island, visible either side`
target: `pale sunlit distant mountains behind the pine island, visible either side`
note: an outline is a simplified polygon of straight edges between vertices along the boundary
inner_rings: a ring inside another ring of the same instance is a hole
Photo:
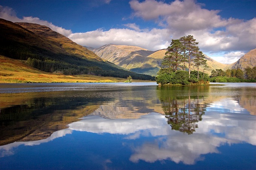
[[[104,45],[92,50],[102,59],[113,62],[130,71],[154,76],[160,69],[162,60],[167,51],[167,49],[149,51],[140,47],[114,44]],[[227,67],[227,65],[216,62],[206,55],[205,59],[209,66],[209,68],[205,70],[208,74],[210,74],[213,69],[224,69]],[[191,69],[193,70],[194,68],[191,67]],[[203,71],[202,67],[200,67],[200,71]]]

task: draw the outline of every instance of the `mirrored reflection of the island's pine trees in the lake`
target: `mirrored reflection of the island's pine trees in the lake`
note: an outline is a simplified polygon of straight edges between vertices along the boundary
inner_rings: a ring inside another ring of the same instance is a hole
[[[158,97],[167,122],[172,130],[193,134],[206,111],[204,96],[199,91],[205,87],[158,87]],[[192,94],[192,95],[191,95]]]

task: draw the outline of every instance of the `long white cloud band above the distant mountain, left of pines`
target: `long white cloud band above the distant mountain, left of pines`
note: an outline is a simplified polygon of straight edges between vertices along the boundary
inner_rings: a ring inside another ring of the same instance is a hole
[[[101,47],[105,44],[135,45],[149,50],[168,47],[169,32],[167,29],[152,29],[139,32],[131,29],[98,29],[85,33],[73,33],[68,38],[83,46]]]

